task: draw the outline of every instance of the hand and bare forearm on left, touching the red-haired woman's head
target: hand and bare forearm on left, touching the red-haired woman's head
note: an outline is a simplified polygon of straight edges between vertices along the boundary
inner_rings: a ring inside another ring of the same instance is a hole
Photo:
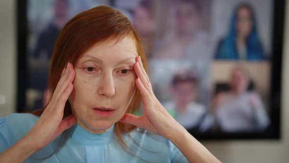
[[[53,96],[39,120],[22,139],[0,153],[0,163],[24,162],[33,153],[48,145],[64,130],[72,127],[76,118],[70,115],[63,119],[63,111],[73,90],[74,77],[73,65],[68,63],[62,71]]]

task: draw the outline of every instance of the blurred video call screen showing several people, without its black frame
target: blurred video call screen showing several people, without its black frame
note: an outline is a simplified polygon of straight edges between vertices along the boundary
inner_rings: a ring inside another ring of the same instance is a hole
[[[120,10],[142,36],[154,93],[187,130],[270,125],[273,0],[27,0],[27,109],[46,103],[61,28],[98,5]]]

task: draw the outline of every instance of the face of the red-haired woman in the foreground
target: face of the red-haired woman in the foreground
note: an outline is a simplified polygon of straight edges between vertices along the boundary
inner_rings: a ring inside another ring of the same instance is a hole
[[[76,63],[69,98],[77,124],[91,133],[104,133],[120,120],[135,90],[134,40],[96,45]]]

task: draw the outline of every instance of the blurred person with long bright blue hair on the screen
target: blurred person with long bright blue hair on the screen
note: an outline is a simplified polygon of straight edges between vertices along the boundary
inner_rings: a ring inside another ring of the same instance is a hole
[[[239,4],[231,18],[228,33],[217,45],[216,59],[264,60],[264,50],[258,36],[257,20],[252,6]]]

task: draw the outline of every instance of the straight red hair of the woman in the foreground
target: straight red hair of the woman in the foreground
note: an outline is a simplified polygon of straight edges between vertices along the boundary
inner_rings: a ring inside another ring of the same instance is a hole
[[[109,6],[97,6],[74,16],[62,28],[55,43],[48,77],[48,90],[50,92],[48,102],[60,80],[61,72],[68,62],[75,65],[78,59],[96,44],[112,40],[120,41],[127,36],[135,41],[137,52],[141,56],[146,70],[146,57],[139,35],[131,22],[120,11]],[[140,107],[140,102],[141,94],[137,89],[126,112],[134,113]],[[43,111],[44,109],[41,109],[32,113],[40,116]],[[67,101],[63,118],[70,114],[72,114],[72,108]],[[135,128],[136,126],[121,122],[115,124],[114,132],[122,147],[126,147],[122,134]]]

